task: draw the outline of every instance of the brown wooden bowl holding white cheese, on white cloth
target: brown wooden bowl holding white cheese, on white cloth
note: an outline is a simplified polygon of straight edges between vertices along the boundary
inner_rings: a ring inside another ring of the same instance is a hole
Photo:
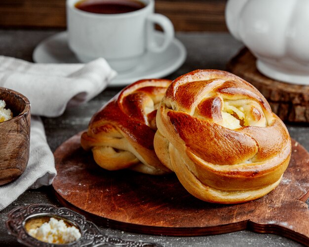
[[[11,182],[26,169],[30,146],[30,103],[22,94],[0,87],[0,100],[13,118],[0,123],[0,185]]]

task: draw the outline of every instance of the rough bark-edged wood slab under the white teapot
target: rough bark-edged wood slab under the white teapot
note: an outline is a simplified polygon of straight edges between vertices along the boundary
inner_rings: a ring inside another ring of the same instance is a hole
[[[261,74],[256,58],[247,48],[232,58],[227,70],[255,86],[283,121],[309,122],[309,86],[289,84]]]

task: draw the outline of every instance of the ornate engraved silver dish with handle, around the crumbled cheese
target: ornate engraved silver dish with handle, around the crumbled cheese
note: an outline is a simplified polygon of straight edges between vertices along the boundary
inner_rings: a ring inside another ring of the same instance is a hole
[[[77,227],[81,233],[81,237],[76,242],[66,245],[49,244],[39,241],[27,233],[26,224],[30,220],[40,217],[63,219],[67,224]],[[94,223],[87,221],[83,215],[67,208],[57,208],[48,204],[32,204],[25,207],[17,207],[8,213],[5,224],[9,234],[15,236],[19,243],[29,247],[162,247],[154,243],[127,241],[104,235]]]

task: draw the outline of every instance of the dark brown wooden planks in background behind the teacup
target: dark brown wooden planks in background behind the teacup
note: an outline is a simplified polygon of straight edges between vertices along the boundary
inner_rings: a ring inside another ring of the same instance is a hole
[[[227,0],[155,0],[176,31],[227,31]],[[0,28],[65,28],[66,0],[0,0]]]

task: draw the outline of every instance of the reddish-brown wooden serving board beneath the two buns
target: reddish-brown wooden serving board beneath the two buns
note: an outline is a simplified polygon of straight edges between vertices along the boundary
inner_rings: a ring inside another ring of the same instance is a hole
[[[54,153],[58,200],[100,225],[169,236],[198,236],[249,229],[309,245],[309,153],[292,141],[291,162],[280,185],[255,201],[210,204],[190,195],[174,174],[150,176],[106,171],[80,147],[80,134]]]

